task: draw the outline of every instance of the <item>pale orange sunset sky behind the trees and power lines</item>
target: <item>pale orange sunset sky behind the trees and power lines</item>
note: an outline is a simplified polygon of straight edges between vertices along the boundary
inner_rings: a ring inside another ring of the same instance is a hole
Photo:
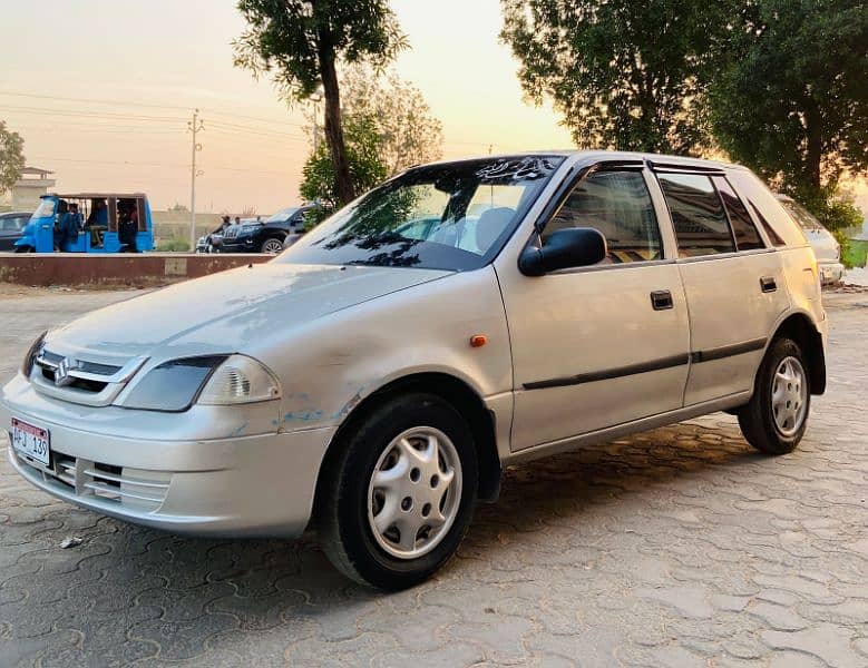
[[[550,107],[523,100],[498,0],[393,0],[411,50],[396,62],[443,124],[445,157],[567,148]],[[62,190],[144,190],[189,204],[187,120],[202,110],[197,210],[271,213],[299,202],[303,110],[232,66],[244,29],[232,0],[3,3],[0,119],[28,165]],[[868,208],[868,188],[857,185]]]

